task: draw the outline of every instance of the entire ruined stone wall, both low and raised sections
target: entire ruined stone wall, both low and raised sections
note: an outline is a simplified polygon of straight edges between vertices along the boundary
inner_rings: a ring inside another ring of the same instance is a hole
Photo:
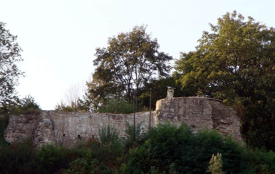
[[[234,139],[242,140],[240,119],[232,108],[217,99],[161,99],[157,101],[156,111],[152,112],[151,126],[165,120],[177,125],[187,123],[194,131],[217,129],[224,136],[232,134]],[[123,136],[125,122],[133,124],[133,114],[41,111],[32,115],[11,115],[4,138],[9,143],[32,139],[37,147],[50,142],[69,147],[78,141],[98,138],[98,130],[108,124],[117,128],[119,135]],[[148,122],[149,112],[136,113],[136,124],[141,123],[146,130]]]

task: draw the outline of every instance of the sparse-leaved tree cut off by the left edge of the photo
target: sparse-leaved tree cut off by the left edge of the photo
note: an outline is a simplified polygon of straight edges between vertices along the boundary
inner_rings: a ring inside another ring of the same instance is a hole
[[[0,22],[0,108],[2,114],[9,112],[11,106],[18,102],[15,86],[18,85],[18,77],[23,75],[16,62],[22,61],[22,51],[16,42],[17,36],[13,36],[5,28],[5,23]]]

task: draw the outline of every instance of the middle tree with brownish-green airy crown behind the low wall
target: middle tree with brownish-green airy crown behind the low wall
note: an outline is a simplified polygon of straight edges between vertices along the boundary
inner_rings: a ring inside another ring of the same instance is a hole
[[[157,39],[145,32],[146,26],[108,38],[107,48],[96,49],[96,66],[88,93],[94,98],[125,95],[130,101],[133,89],[139,91],[150,80],[166,77],[172,56],[158,51]],[[100,99],[99,99],[100,100]]]

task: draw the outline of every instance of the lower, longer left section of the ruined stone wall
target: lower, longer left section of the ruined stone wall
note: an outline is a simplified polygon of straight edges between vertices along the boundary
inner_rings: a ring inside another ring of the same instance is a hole
[[[147,128],[148,116],[149,112],[136,113],[136,124]],[[39,115],[11,115],[4,138],[8,143],[32,138],[38,147],[50,142],[69,147],[78,141],[98,138],[98,130],[108,124],[123,136],[125,122],[133,124],[133,114],[41,111]]]

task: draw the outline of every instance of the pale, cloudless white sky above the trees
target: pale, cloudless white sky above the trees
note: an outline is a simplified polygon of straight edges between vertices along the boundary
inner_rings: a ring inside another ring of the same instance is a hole
[[[0,0],[0,21],[7,23],[22,48],[18,64],[18,95],[30,94],[44,110],[64,99],[72,84],[85,84],[93,72],[96,47],[135,25],[148,25],[160,50],[179,57],[195,50],[208,23],[236,10],[244,17],[275,27],[275,1],[107,1],[107,0]]]

